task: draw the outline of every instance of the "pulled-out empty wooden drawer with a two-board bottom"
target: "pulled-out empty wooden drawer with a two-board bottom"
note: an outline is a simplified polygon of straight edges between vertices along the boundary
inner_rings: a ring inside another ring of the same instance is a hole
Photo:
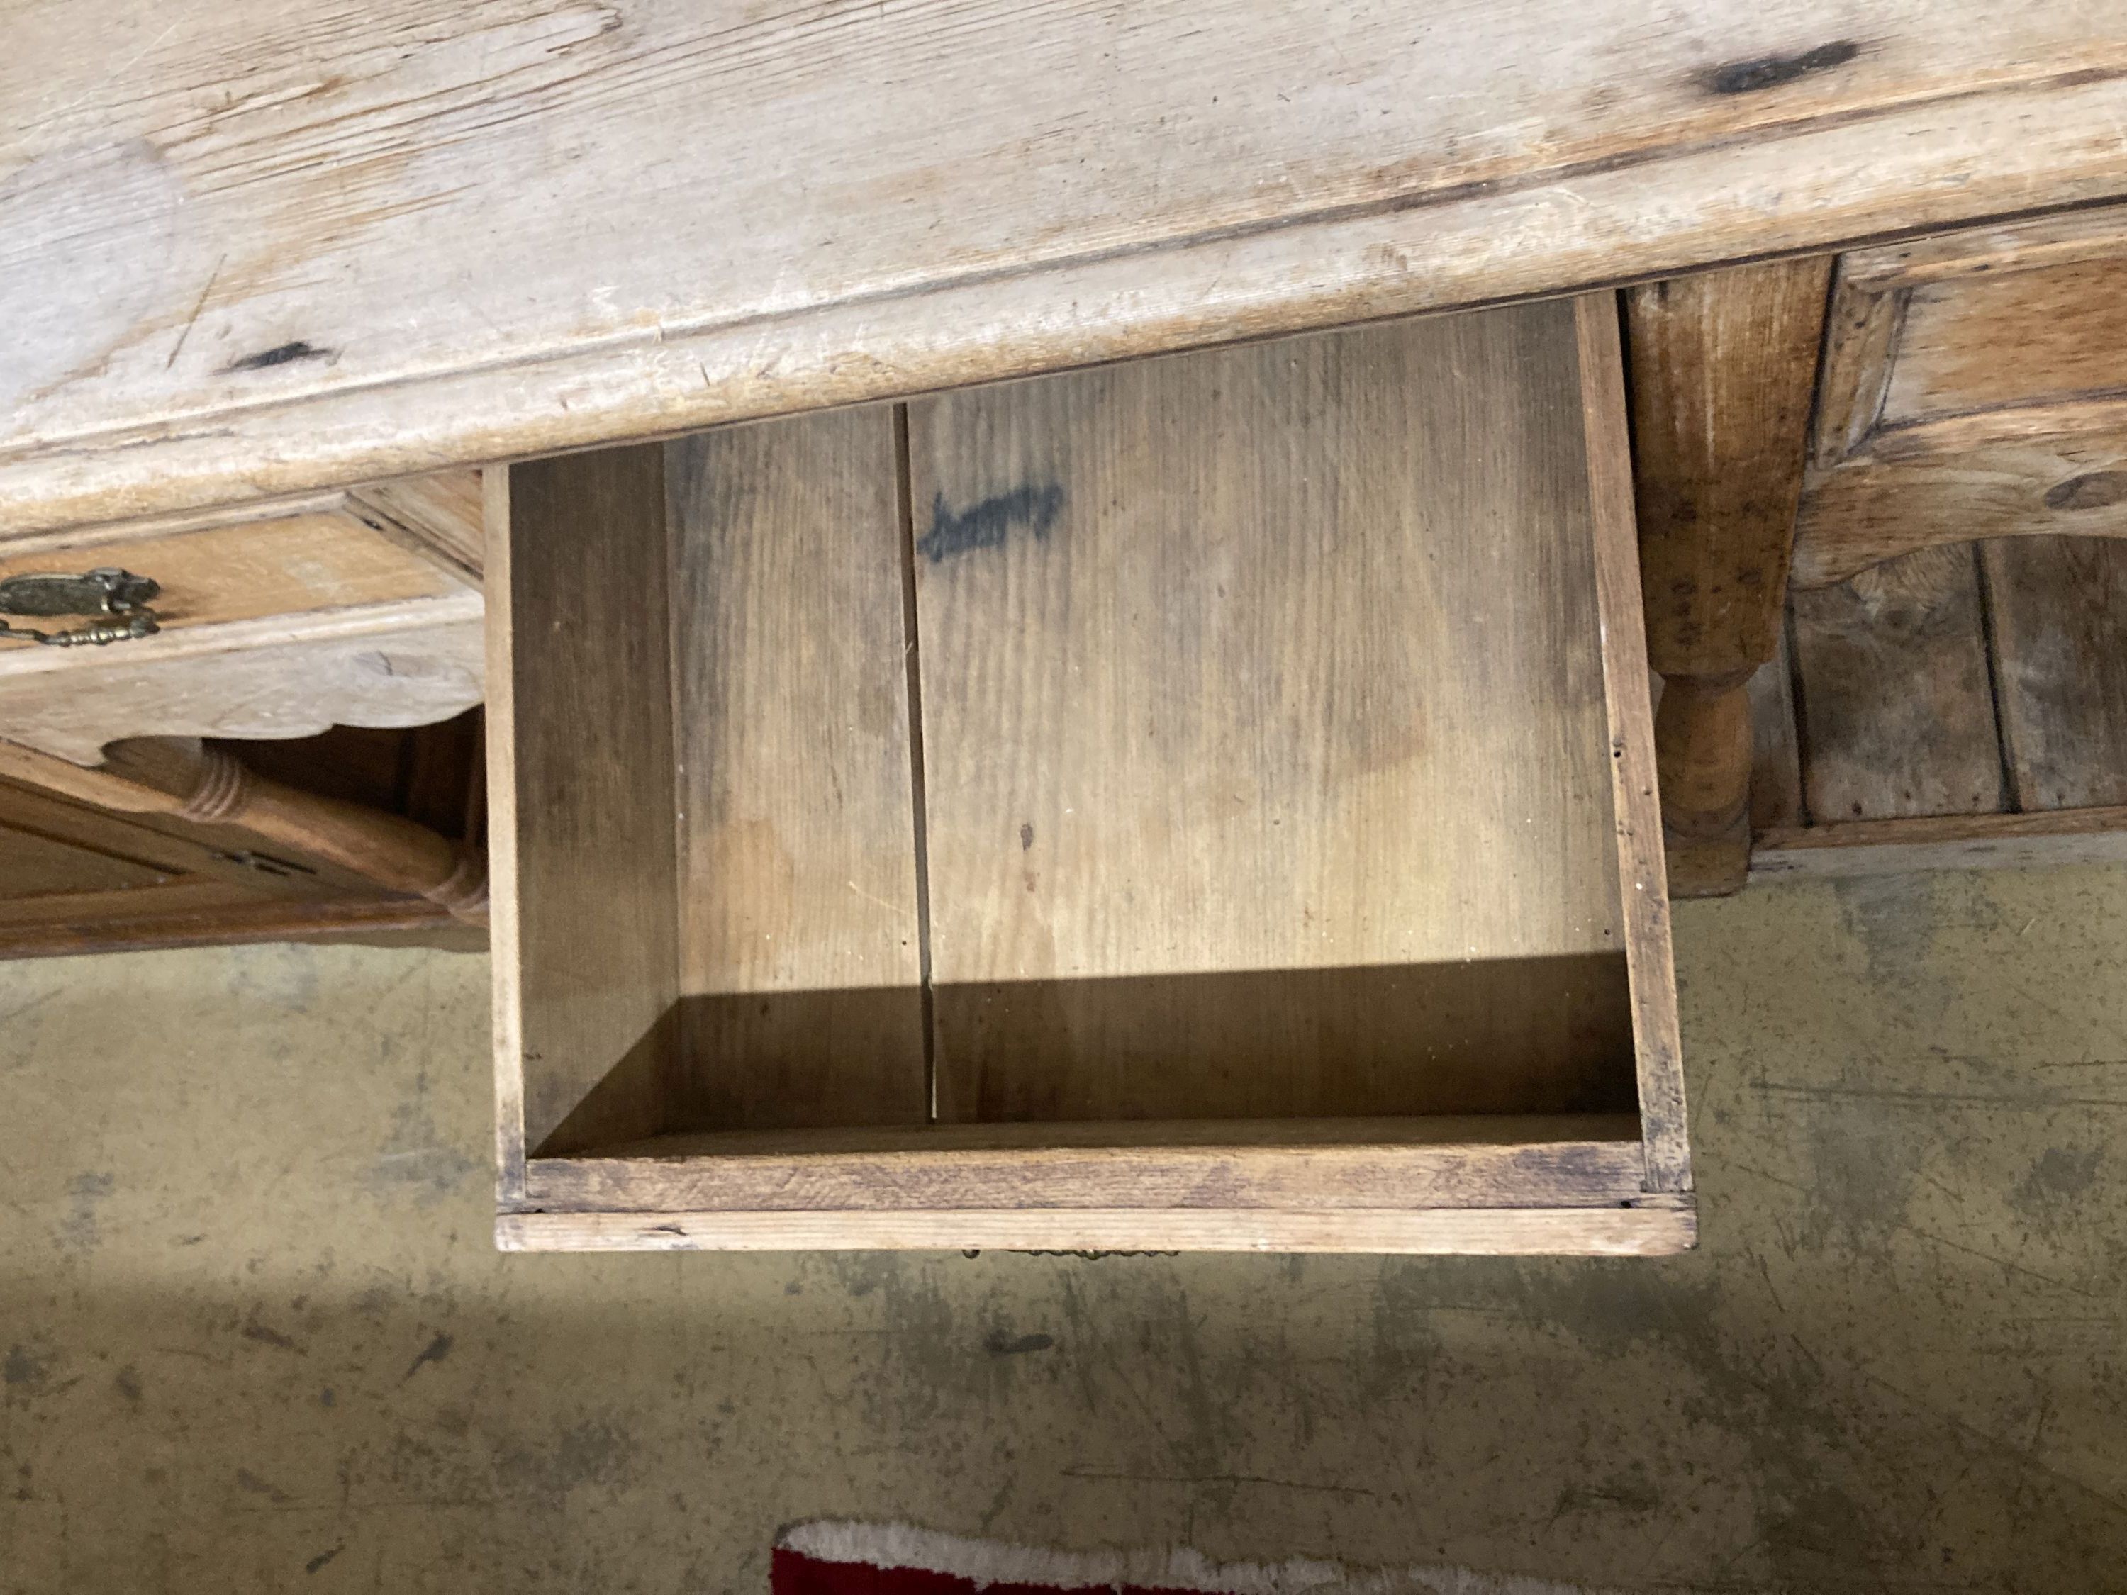
[[[504,1246],[1691,1244],[1610,296],[487,513]]]

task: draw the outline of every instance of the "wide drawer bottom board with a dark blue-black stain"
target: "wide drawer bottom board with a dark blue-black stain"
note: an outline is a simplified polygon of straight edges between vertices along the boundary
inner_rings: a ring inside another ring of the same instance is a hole
[[[1466,1040],[1512,1093],[1468,1108],[1625,1082],[1574,336],[1544,304],[910,406],[940,1119],[1438,1112]],[[1487,959],[1563,978],[1457,1034]],[[1280,1023],[1234,972],[1366,1000]]]

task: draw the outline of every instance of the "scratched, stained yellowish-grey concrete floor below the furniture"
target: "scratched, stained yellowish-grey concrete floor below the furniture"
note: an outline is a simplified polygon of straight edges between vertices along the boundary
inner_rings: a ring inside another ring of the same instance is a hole
[[[483,959],[0,966],[0,1589],[757,1591],[817,1514],[2127,1589],[2127,870],[1678,946],[1668,1261],[498,1257]]]

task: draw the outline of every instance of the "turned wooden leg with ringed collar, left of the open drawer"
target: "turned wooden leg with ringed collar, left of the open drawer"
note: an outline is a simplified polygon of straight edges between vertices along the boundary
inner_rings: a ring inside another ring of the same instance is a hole
[[[100,766],[0,742],[0,774],[132,815],[242,825],[296,853],[336,863],[385,891],[428,897],[453,917],[487,919],[487,859],[402,815],[283,787],[232,753],[189,736],[113,742]]]

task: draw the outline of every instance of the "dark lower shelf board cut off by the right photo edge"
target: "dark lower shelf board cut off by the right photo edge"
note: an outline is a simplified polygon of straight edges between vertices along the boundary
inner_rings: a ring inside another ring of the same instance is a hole
[[[2014,806],[2127,804],[2127,542],[1984,542],[1980,566]]]

